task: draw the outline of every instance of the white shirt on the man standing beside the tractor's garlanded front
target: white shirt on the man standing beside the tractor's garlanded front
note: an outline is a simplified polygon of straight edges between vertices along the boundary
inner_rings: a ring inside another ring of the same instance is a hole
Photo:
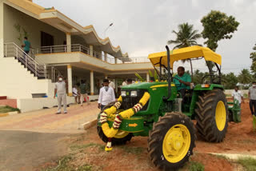
[[[114,89],[109,86],[109,89],[106,91],[106,89],[102,87],[99,90],[98,103],[108,105],[112,101],[115,101]]]

